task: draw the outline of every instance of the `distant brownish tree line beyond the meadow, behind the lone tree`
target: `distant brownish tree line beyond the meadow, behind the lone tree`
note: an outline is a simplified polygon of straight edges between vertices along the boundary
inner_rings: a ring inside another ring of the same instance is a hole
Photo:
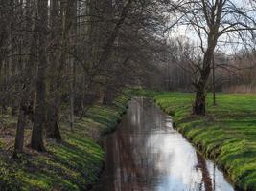
[[[230,51],[231,52],[231,51]],[[162,64],[162,86],[166,91],[194,92],[198,77],[197,64],[201,55],[189,40],[180,38],[169,42],[168,58]],[[255,93],[256,54],[254,49],[240,49],[234,53],[214,53],[215,65],[207,80],[207,92]],[[213,78],[213,71],[215,76]],[[214,80],[214,81],[213,81]]]

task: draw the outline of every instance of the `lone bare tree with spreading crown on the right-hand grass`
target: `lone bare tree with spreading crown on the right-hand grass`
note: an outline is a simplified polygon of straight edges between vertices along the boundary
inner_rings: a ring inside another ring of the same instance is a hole
[[[249,7],[243,6],[245,1],[239,2],[180,0],[175,1],[173,5],[175,12],[180,14],[178,22],[197,32],[203,57],[198,68],[199,77],[195,83],[196,98],[193,107],[195,115],[205,115],[207,81],[215,49],[220,43],[223,43],[222,37],[241,38],[249,31],[255,30],[253,12]]]

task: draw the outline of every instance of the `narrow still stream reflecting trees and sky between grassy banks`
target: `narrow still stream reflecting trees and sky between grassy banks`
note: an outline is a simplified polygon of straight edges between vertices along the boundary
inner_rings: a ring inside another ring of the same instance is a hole
[[[105,152],[105,171],[93,191],[234,190],[151,99],[130,101],[118,130],[105,138]]]

